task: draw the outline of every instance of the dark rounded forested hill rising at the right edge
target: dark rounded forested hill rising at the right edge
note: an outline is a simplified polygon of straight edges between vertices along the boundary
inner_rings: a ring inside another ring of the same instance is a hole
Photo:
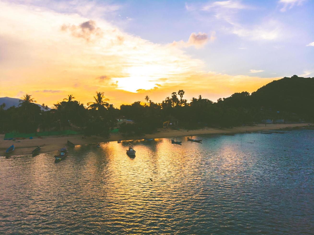
[[[314,116],[314,77],[284,77],[268,83],[251,95],[234,93],[224,98],[229,107],[264,108],[297,113],[306,118]]]

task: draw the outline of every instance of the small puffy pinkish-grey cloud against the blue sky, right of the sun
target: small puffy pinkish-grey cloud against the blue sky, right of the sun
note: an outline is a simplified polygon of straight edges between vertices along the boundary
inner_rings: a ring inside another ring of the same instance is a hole
[[[210,35],[206,33],[199,32],[198,34],[192,33],[187,42],[181,41],[173,41],[171,45],[177,47],[189,47],[194,46],[196,49],[202,48],[208,41],[214,41],[216,39],[216,32],[211,32]]]

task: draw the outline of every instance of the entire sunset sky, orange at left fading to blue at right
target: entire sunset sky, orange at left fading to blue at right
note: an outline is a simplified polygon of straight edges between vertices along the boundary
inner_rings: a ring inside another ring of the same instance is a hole
[[[314,77],[314,1],[0,0],[0,97],[216,101]]]

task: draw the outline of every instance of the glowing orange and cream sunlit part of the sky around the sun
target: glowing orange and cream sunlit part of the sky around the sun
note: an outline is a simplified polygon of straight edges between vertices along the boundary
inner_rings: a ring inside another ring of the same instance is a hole
[[[119,107],[145,95],[158,103],[183,89],[187,100],[201,94],[216,101],[279,79],[205,71],[182,45],[152,43],[104,19],[13,3],[0,2],[0,8],[1,22],[7,22],[0,28],[0,97],[28,93],[52,106],[68,94],[86,104],[104,91]]]

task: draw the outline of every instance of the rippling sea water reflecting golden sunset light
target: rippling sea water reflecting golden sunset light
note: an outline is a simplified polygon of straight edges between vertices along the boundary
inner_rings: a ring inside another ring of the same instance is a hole
[[[314,131],[0,158],[0,234],[313,234]]]

